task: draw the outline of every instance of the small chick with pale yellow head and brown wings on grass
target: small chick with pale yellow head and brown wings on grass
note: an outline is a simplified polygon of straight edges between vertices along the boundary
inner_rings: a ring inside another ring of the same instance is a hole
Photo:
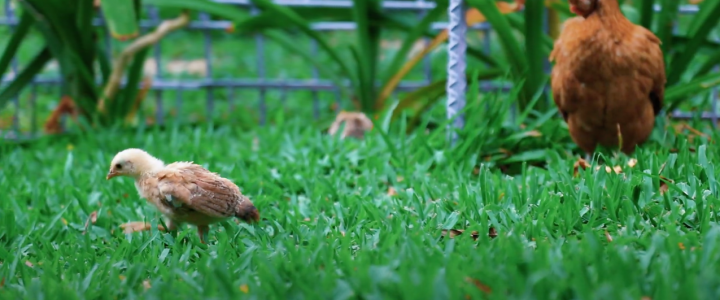
[[[193,224],[203,243],[210,224],[232,217],[248,223],[260,220],[257,208],[237,185],[192,162],[165,165],[147,152],[131,148],[113,158],[106,179],[116,176],[135,179],[140,196],[168,218],[169,230],[182,223]],[[141,225],[129,230],[150,229]]]

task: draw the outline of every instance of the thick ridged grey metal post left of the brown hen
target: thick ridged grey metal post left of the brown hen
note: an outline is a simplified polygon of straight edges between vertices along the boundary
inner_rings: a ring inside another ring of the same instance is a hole
[[[465,42],[465,32],[467,31],[467,23],[465,23],[465,1],[450,0],[448,6],[449,16],[449,38],[448,38],[448,80],[447,80],[447,117],[455,120],[448,124],[448,138],[450,144],[457,142],[456,130],[465,126],[465,118],[462,114],[458,115],[465,107],[465,89],[467,80],[465,78],[465,51],[467,44]],[[456,116],[457,115],[457,116]]]

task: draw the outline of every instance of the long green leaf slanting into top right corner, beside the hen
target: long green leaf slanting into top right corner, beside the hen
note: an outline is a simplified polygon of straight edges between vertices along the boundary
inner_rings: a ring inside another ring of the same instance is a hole
[[[700,46],[704,43],[710,31],[720,22],[720,1],[703,1],[700,11],[693,18],[688,30],[690,42],[682,53],[673,57],[668,72],[667,85],[678,83],[690,62],[695,58]]]

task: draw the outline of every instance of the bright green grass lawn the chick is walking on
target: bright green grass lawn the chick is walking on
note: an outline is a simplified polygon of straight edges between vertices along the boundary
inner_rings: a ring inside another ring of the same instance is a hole
[[[594,164],[574,176],[577,156],[551,148],[544,164],[503,173],[460,157],[472,141],[449,147],[442,130],[378,126],[358,141],[277,123],[2,146],[0,297],[720,296],[720,155],[705,138],[661,134],[665,145],[651,141],[635,160],[606,157],[619,174]],[[192,227],[123,234],[122,223],[160,220],[131,179],[105,180],[128,147],[230,178],[262,221],[212,226],[207,245]],[[443,238],[443,229],[465,231]]]

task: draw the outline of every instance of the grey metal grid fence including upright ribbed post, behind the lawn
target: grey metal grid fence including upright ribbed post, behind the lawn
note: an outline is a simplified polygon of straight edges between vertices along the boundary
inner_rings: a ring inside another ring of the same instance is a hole
[[[14,11],[10,5],[11,0],[5,0],[5,16],[3,18],[0,18],[0,25],[10,26],[11,28],[16,26],[18,23],[18,18],[14,14]],[[256,12],[256,10],[252,7],[251,2],[249,0],[214,0],[215,2],[224,3],[224,4],[231,4],[231,5],[237,5],[240,7],[246,7],[251,9],[253,13]],[[352,7],[352,1],[351,0],[275,0],[274,1],[277,4],[285,5],[289,7],[333,7],[333,8],[351,8]],[[448,83],[447,83],[447,113],[448,117],[452,117],[455,115],[456,112],[460,111],[465,104],[465,89],[466,89],[466,82],[465,82],[465,49],[466,49],[466,39],[465,39],[465,33],[468,28],[466,28],[465,21],[464,21],[464,1],[463,0],[450,0],[450,7],[448,8],[448,19],[449,22],[435,22],[431,26],[433,29],[444,29],[449,28],[450,29],[450,35],[448,39],[448,67],[447,67],[447,76],[448,76]],[[435,3],[432,0],[406,0],[406,1],[393,1],[393,0],[386,0],[383,1],[383,8],[386,10],[402,10],[402,11],[412,11],[415,12],[418,16],[418,19],[422,18],[424,14],[435,8]],[[660,7],[656,6],[655,9],[657,11],[660,10]],[[698,7],[695,5],[682,5],[680,8],[680,13],[682,14],[694,14],[697,13]],[[159,17],[157,9],[153,7],[148,7],[148,13],[150,16],[149,20],[141,20],[140,27],[143,30],[155,28],[157,25],[160,24],[162,21]],[[96,26],[104,26],[104,22],[102,18],[98,18],[95,20]],[[260,99],[258,99],[258,105],[257,109],[259,110],[260,115],[260,123],[264,124],[266,122],[266,115],[267,115],[267,107],[265,103],[265,92],[269,90],[282,90],[282,91],[292,91],[292,90],[310,90],[313,93],[313,115],[317,118],[319,116],[319,99],[317,96],[317,92],[319,91],[336,91],[337,87],[335,87],[330,81],[327,80],[321,80],[319,79],[318,70],[317,68],[313,68],[312,70],[312,79],[310,80],[301,80],[301,79],[285,79],[285,80],[279,80],[279,79],[273,79],[273,78],[266,78],[266,72],[265,72],[265,58],[263,57],[264,47],[265,47],[265,39],[262,36],[262,34],[256,34],[255,35],[255,51],[257,54],[257,74],[258,76],[255,78],[231,78],[231,79],[218,79],[215,76],[213,76],[213,65],[212,65],[212,59],[211,59],[211,53],[213,48],[213,41],[211,37],[212,31],[221,31],[225,30],[230,26],[231,23],[228,21],[219,21],[219,20],[211,20],[209,15],[200,13],[198,19],[192,20],[187,27],[187,30],[199,30],[203,33],[203,52],[204,52],[204,58],[206,61],[206,76],[203,79],[200,80],[191,80],[191,79],[182,79],[182,80],[168,80],[163,77],[161,66],[163,65],[163,57],[161,56],[160,48],[162,47],[162,43],[159,43],[154,46],[153,49],[153,58],[155,62],[155,68],[157,69],[157,73],[153,78],[152,81],[152,87],[151,90],[153,90],[155,95],[155,105],[157,107],[156,110],[156,121],[158,123],[164,122],[165,119],[165,110],[163,109],[163,99],[164,99],[164,91],[168,90],[174,90],[177,91],[176,95],[178,95],[178,99],[176,101],[177,105],[180,105],[182,102],[180,99],[181,91],[187,91],[187,90],[206,90],[206,107],[208,110],[212,111],[215,106],[215,101],[213,97],[213,90],[219,90],[219,89],[226,89],[229,93],[229,95],[233,95],[234,91],[237,89],[255,89],[259,91]],[[353,22],[317,22],[312,24],[312,28],[314,30],[318,31],[352,31],[355,29],[355,24]],[[483,31],[485,34],[483,34],[483,44],[485,51],[489,53],[490,51],[490,34],[489,32],[492,30],[490,25],[488,23],[482,23],[473,26],[470,28],[472,30],[479,30]],[[106,30],[107,33],[107,30]],[[108,33],[109,34],[109,33]],[[109,39],[108,39],[109,40]],[[427,40],[425,42],[428,42]],[[108,47],[109,48],[109,47]],[[317,45],[314,44],[314,42],[311,40],[310,49],[311,53],[316,54],[317,53]],[[403,81],[398,86],[399,91],[409,91],[414,90],[419,87],[425,86],[433,80],[433,74],[431,72],[430,68],[430,57],[425,56],[424,61],[424,80],[421,81]],[[13,61],[11,68],[13,70],[13,74],[17,74],[18,70],[18,63],[17,61]],[[549,71],[549,70],[548,70]],[[4,74],[2,78],[3,84],[7,84],[13,79],[13,74]],[[31,95],[28,97],[29,101],[34,101],[35,99],[35,91],[37,86],[48,86],[48,85],[59,85],[60,84],[60,78],[35,78],[31,87]],[[481,85],[481,88],[483,89],[493,89],[496,88],[492,85]],[[336,101],[342,102],[342,99],[339,98],[339,93],[335,93],[336,95]],[[229,96],[232,98],[232,96]],[[714,95],[715,98],[716,95]],[[58,97],[59,99],[59,97]],[[15,137],[18,136],[19,130],[18,130],[18,124],[19,124],[19,99],[13,99],[13,104],[7,106],[5,109],[9,110],[15,110],[13,117],[12,117],[12,125],[10,128],[2,128],[0,127],[0,134],[2,134],[5,137]],[[34,104],[33,104],[34,105]],[[34,109],[34,107],[33,107]],[[703,118],[711,118],[715,121],[717,119],[716,114],[716,104],[715,101],[713,101],[712,106],[712,112],[705,112],[703,113]],[[682,113],[682,112],[674,112],[673,114],[675,117],[679,118],[691,118],[693,115],[689,113]],[[31,118],[37,118],[36,112],[33,111]],[[462,117],[457,118],[456,122],[452,126],[462,127],[463,126],[463,119]],[[35,124],[35,122],[32,122],[32,124]],[[9,131],[8,131],[9,129]],[[5,132],[3,132],[5,131]],[[33,127],[30,130],[30,134],[35,133],[36,129]],[[25,133],[23,133],[25,134]]]

